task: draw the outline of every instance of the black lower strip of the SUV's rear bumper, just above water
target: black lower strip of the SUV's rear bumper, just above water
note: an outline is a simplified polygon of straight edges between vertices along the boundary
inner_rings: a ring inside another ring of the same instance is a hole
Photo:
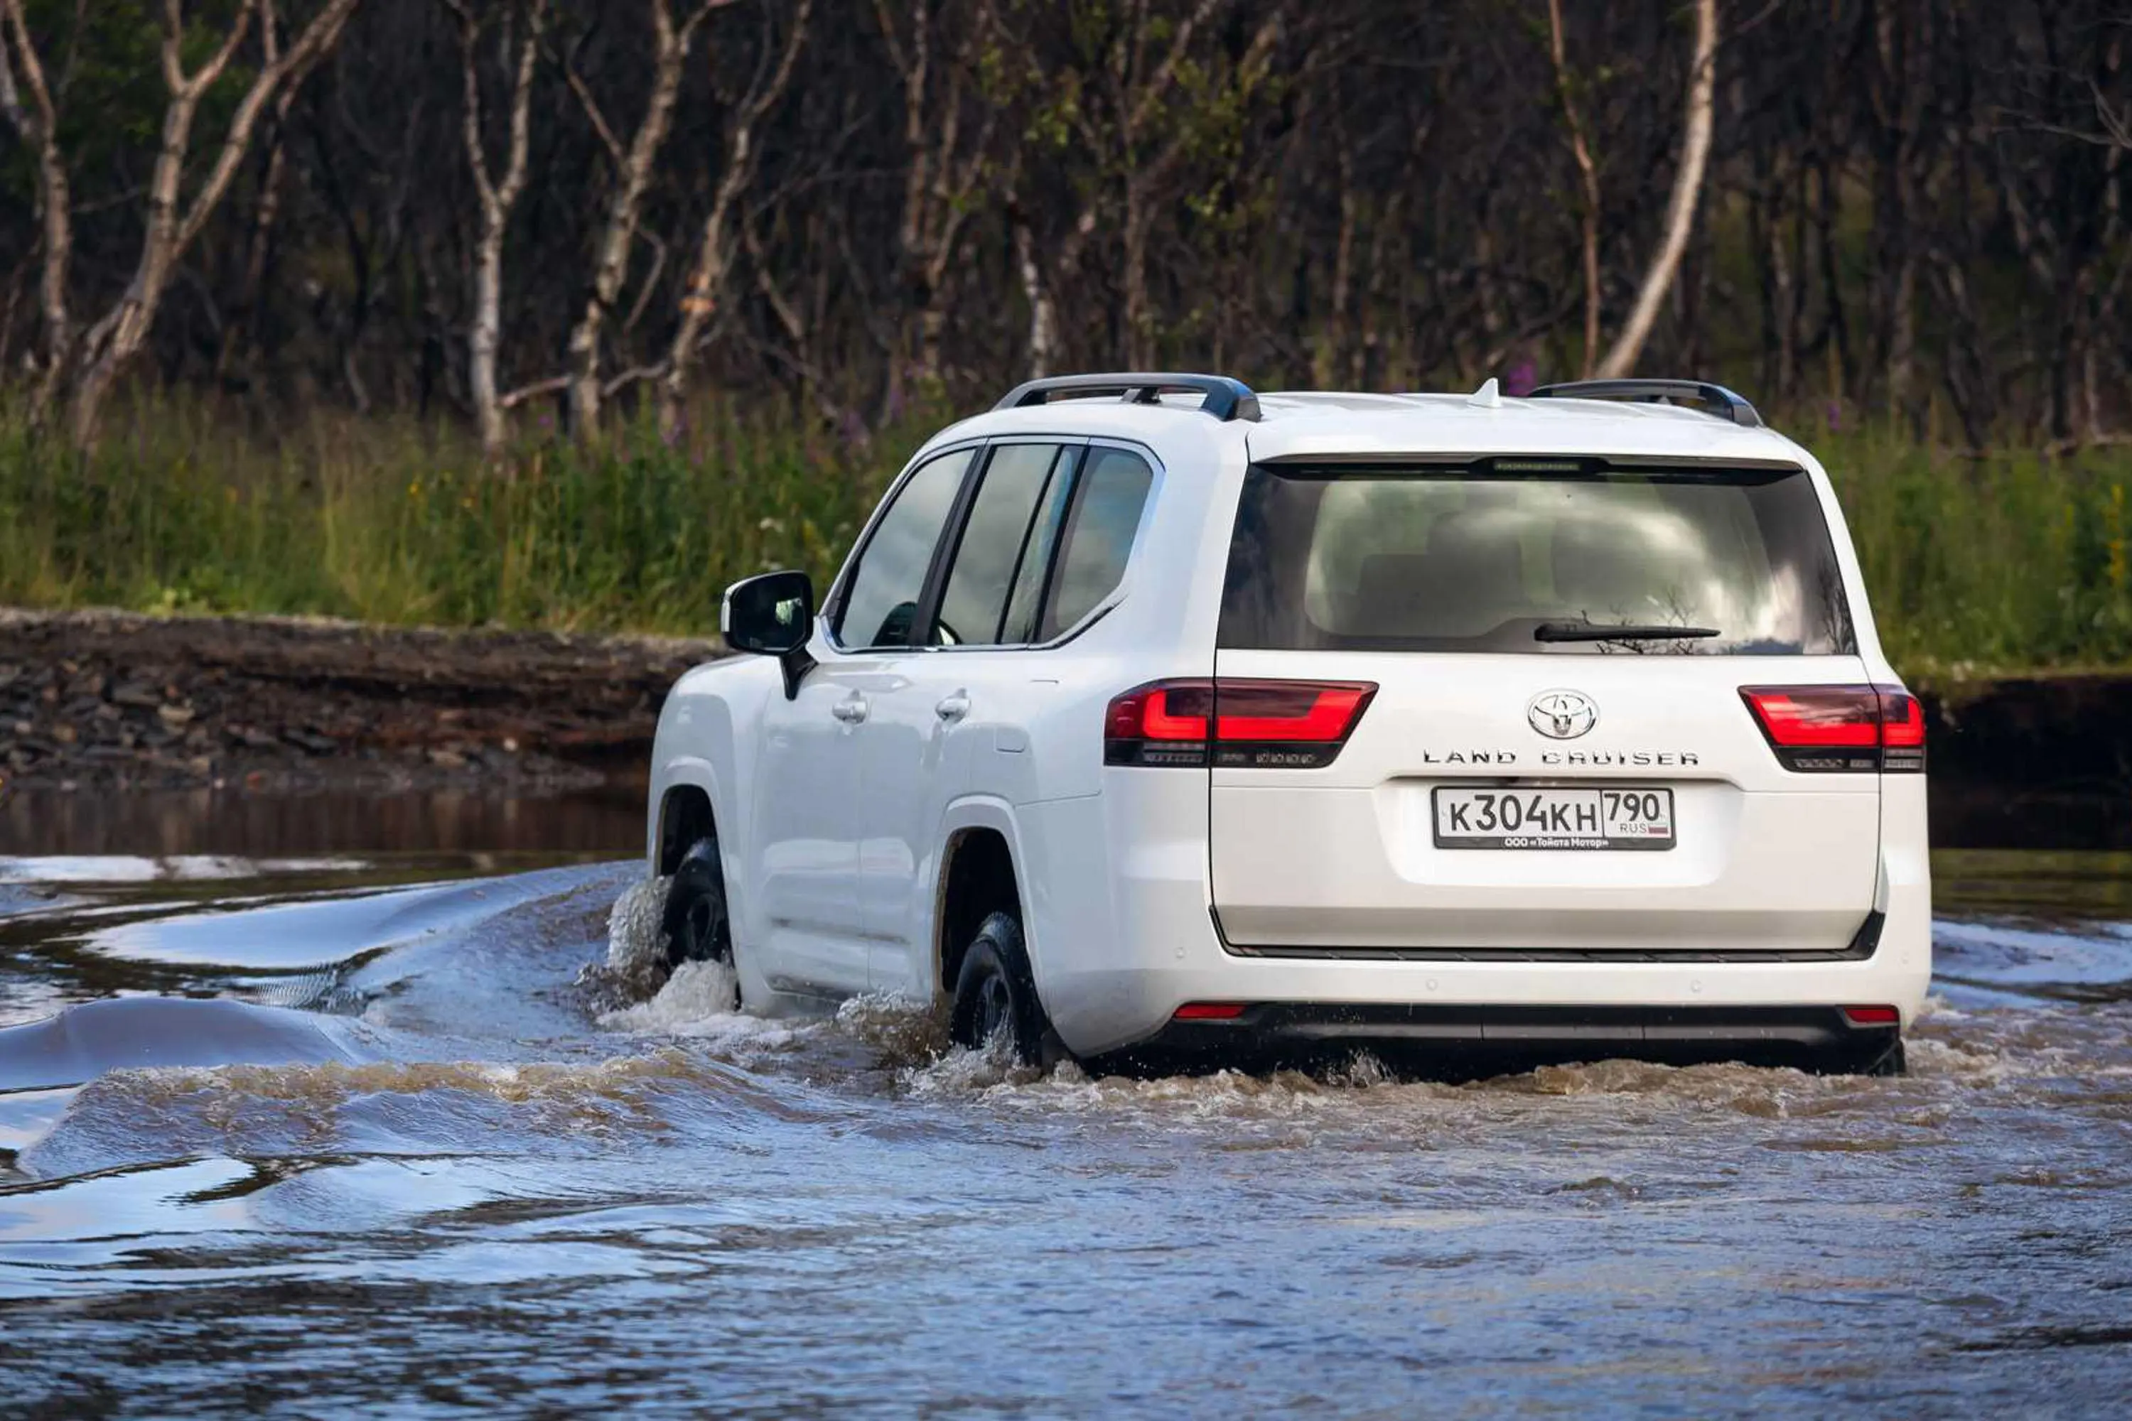
[[[1533,1008],[1533,1006],[1324,1006],[1260,1001],[1234,1020],[1173,1020],[1113,1052],[1104,1065],[1283,1065],[1369,1052],[1473,1072],[1550,1061],[1637,1057],[1686,1065],[1746,1061],[1814,1069],[1866,1069],[1900,1038],[1897,1027],[1853,1025],[1831,1006],[1793,1008]]]

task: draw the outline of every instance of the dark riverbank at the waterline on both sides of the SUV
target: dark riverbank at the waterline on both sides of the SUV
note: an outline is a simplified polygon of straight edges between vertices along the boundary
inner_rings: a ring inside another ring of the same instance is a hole
[[[0,795],[640,782],[716,641],[0,609]],[[1942,846],[2132,848],[2132,671],[1921,686]]]

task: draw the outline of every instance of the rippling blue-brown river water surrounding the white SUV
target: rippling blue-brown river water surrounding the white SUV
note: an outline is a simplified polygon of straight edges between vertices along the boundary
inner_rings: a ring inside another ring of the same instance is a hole
[[[1030,1078],[569,854],[0,859],[0,1410],[2123,1415],[2132,859],[1940,861],[1904,1080]]]

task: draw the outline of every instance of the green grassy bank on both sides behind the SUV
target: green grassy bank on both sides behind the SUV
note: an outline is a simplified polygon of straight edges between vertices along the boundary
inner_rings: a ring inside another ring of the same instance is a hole
[[[241,430],[143,405],[85,464],[0,415],[0,601],[377,622],[701,633],[733,577],[827,577],[940,422],[868,441],[701,405],[499,469],[452,426],[313,415]],[[1880,633],[1910,675],[2132,663],[2132,450],[1970,458],[1810,430]]]

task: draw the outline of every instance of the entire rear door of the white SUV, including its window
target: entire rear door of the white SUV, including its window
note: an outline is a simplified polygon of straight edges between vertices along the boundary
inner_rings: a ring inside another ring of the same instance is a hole
[[[1866,682],[1802,471],[1251,469],[1215,671],[1217,712],[1375,686],[1328,765],[1215,756],[1237,946],[1827,952],[1872,910],[1878,752],[1793,769],[1742,697],[1872,705],[1799,690]]]

